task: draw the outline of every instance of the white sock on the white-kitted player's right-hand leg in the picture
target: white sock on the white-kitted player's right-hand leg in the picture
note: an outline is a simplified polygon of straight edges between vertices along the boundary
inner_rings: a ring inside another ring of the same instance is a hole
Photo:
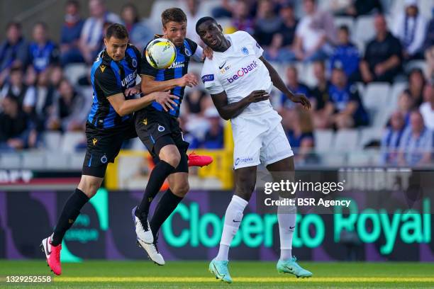
[[[283,198],[279,198],[283,200]],[[279,221],[280,259],[292,258],[292,236],[296,225],[297,208],[295,205],[279,205],[277,220]]]

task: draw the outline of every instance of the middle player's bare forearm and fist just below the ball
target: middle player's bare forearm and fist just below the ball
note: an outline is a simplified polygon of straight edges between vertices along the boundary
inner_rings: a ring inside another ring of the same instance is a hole
[[[165,81],[156,81],[154,77],[142,74],[142,92],[143,94],[152,94],[156,91],[169,91],[176,86],[196,86],[197,77],[194,74],[187,73],[179,79],[169,79]]]

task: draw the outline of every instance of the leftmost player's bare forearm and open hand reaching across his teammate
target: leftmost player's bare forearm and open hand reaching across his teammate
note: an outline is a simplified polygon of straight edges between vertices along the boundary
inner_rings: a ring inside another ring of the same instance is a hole
[[[118,115],[124,116],[149,106],[152,101],[157,101],[157,103],[160,103],[162,107],[165,108],[165,111],[169,111],[172,108],[178,106],[177,103],[173,101],[177,98],[179,97],[173,96],[172,94],[169,94],[169,92],[154,92],[137,99],[126,100],[123,94],[115,94],[113,96],[109,96],[107,99],[109,100],[111,106],[113,106],[116,113],[118,113]]]

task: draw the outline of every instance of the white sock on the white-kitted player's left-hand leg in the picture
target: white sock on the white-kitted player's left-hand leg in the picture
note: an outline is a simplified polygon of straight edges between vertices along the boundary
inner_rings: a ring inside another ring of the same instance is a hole
[[[238,196],[233,196],[226,209],[225,224],[221,234],[220,248],[216,261],[228,261],[229,247],[233,237],[238,232],[241,220],[243,220],[243,211],[247,206],[247,200]]]

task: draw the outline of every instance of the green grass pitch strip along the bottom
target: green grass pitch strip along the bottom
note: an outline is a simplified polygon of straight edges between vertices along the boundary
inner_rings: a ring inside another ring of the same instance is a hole
[[[0,288],[434,288],[434,263],[300,262],[312,278],[279,274],[274,262],[231,261],[233,284],[216,280],[206,261],[84,261],[55,276],[45,261],[0,261]],[[52,283],[6,283],[5,276],[53,276]]]

